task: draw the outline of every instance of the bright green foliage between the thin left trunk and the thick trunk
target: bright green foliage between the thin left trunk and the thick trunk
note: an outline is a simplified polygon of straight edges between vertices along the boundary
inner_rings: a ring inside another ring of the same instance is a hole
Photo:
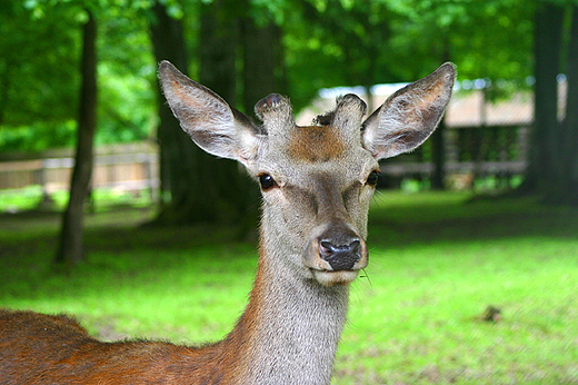
[[[97,145],[142,140],[155,134],[157,68],[141,13],[110,7],[100,14]]]

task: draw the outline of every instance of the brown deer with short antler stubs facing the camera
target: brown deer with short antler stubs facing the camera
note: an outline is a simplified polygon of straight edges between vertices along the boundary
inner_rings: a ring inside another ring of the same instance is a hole
[[[100,342],[67,315],[0,312],[2,384],[329,384],[351,283],[368,266],[368,211],[379,160],[435,130],[456,70],[445,63],[370,116],[355,95],[297,126],[285,96],[255,124],[221,97],[159,65],[168,105],[205,151],[236,159],[260,185],[259,258],[247,307],[222,340]]]

